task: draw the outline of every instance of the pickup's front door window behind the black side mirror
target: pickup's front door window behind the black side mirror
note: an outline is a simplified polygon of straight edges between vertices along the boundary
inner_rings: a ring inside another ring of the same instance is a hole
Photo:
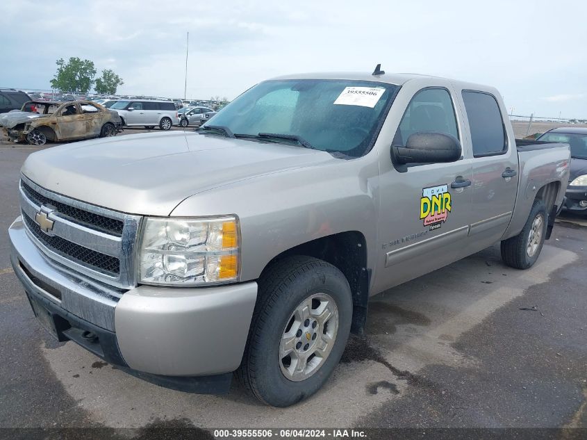
[[[454,106],[448,90],[429,88],[417,92],[399,123],[393,145],[406,145],[408,138],[419,131],[450,134],[458,139]]]

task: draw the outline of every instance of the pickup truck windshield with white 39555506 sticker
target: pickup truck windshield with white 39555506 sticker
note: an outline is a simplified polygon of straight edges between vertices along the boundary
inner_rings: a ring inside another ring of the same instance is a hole
[[[376,81],[265,81],[240,95],[203,127],[226,127],[237,138],[291,145],[301,145],[292,140],[303,139],[315,149],[358,157],[372,145],[397,88]],[[270,133],[280,137],[267,136]]]

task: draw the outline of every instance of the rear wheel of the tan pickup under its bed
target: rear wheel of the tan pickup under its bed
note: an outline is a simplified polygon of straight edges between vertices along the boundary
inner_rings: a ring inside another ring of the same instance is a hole
[[[540,225],[536,225],[538,218],[541,219]],[[527,269],[534,265],[544,245],[547,225],[548,212],[546,206],[542,200],[536,199],[532,204],[526,225],[524,225],[524,229],[520,234],[502,241],[502,260],[504,263],[516,269]],[[533,232],[532,234],[531,231]],[[536,237],[536,231],[540,231],[538,238]],[[531,240],[533,239],[534,244],[531,245]],[[534,252],[531,252],[531,249]]]

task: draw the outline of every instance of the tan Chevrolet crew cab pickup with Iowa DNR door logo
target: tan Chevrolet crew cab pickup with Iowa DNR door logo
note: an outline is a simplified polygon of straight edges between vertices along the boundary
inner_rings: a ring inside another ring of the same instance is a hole
[[[516,141],[495,88],[413,74],[263,81],[198,131],[31,154],[10,226],[35,315],[144,380],[295,404],[368,299],[501,242],[532,266],[569,146]]]

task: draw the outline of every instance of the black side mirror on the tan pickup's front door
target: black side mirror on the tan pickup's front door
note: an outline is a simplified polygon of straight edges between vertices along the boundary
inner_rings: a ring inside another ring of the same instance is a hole
[[[458,161],[463,149],[454,136],[432,131],[413,133],[405,147],[392,146],[391,159],[394,163],[445,163]]]

